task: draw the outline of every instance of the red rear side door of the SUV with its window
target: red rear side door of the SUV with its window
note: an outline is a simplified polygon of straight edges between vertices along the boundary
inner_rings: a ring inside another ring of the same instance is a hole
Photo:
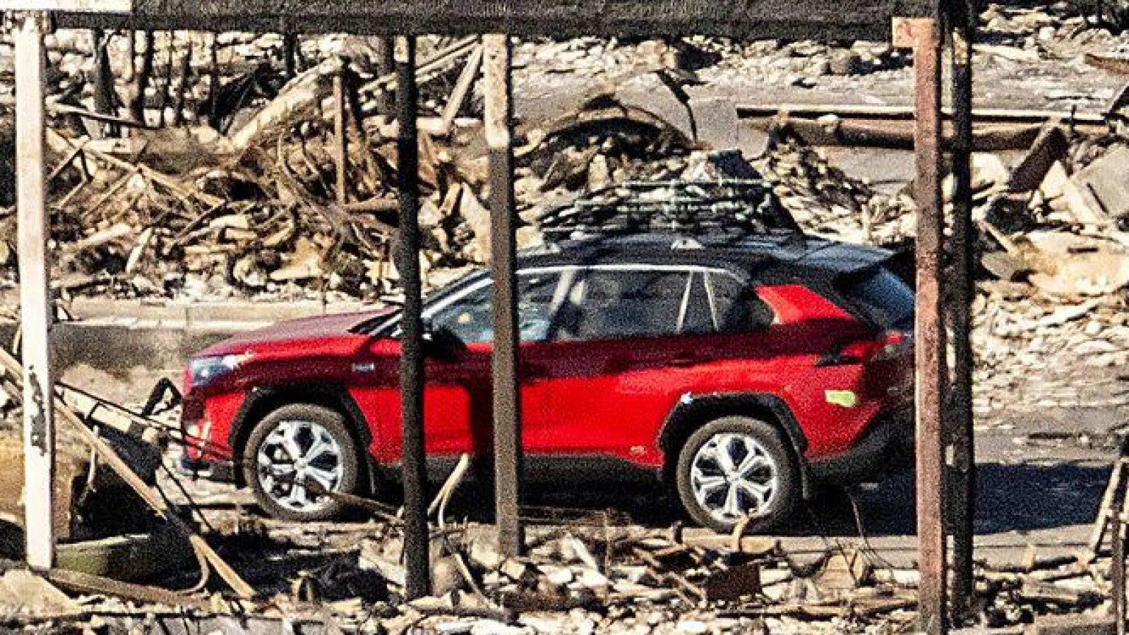
[[[660,264],[581,270],[555,312],[553,341],[523,359],[525,412],[542,422],[525,435],[531,455],[662,462],[655,432],[693,386],[711,337],[692,311],[694,273]]]

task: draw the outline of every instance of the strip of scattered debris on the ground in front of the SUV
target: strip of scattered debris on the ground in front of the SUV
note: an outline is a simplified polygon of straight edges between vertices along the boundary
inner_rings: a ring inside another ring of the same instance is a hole
[[[239,616],[247,632],[286,621],[361,633],[876,635],[912,628],[916,619],[918,571],[890,564],[865,538],[789,553],[780,539],[739,530],[648,529],[615,512],[526,508],[526,555],[508,557],[496,549],[490,526],[444,518],[462,474],[456,468],[431,505],[432,593],[417,600],[404,597],[395,510],[366,500],[357,504],[374,514],[367,522],[295,523],[239,509],[209,511],[209,540],[254,587],[253,598],[121,583],[95,589],[59,571],[49,580],[77,599],[52,593],[43,614],[29,603],[17,620],[81,624],[97,616],[99,624],[116,625],[148,614],[200,625]],[[995,628],[1104,614],[1111,563],[1095,553],[1039,557],[1032,547],[1022,562],[978,564],[973,620]],[[194,579],[194,572],[177,573],[163,584]],[[0,606],[8,600],[0,585]],[[47,615],[59,606],[72,610]]]

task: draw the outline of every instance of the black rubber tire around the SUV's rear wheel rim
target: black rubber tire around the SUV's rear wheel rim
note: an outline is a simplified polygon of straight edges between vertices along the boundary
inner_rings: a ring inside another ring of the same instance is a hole
[[[770,465],[774,466],[774,486],[770,488],[771,493],[765,495],[768,503],[763,515],[751,520],[746,526],[746,531],[750,533],[760,533],[784,526],[789,517],[791,517],[802,494],[795,460],[779,429],[763,421],[746,416],[726,416],[707,423],[691,434],[690,439],[683,444],[682,450],[679,452],[679,464],[675,471],[675,486],[682,506],[690,514],[690,518],[699,524],[709,527],[716,531],[733,531],[739,517],[723,519],[703,506],[694,495],[693,477],[691,474],[699,450],[715,438],[726,433],[738,434],[755,441],[763,450],[764,456],[771,461]],[[745,446],[742,447],[745,448]],[[763,467],[759,469],[767,470],[769,468]],[[764,477],[764,479],[768,480],[768,477]],[[727,492],[732,486],[723,488]],[[747,494],[744,494],[744,496],[749,497]],[[707,502],[709,502],[709,499],[707,499]]]

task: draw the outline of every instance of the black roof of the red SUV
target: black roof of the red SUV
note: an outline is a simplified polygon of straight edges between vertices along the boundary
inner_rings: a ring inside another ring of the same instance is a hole
[[[759,279],[835,276],[873,267],[886,249],[849,245],[795,231],[685,237],[674,233],[596,235],[524,249],[520,268],[577,264],[688,264],[736,267]]]

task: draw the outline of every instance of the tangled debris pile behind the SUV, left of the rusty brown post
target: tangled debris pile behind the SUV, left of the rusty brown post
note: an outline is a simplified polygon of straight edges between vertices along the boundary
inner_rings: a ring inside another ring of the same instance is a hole
[[[479,55],[467,43],[453,46],[438,54]],[[56,285],[64,294],[196,300],[393,297],[395,125],[344,113],[351,134],[341,188],[339,142],[324,113],[342,73],[349,69],[336,60],[306,71],[226,135],[191,126],[89,139],[68,124],[88,115],[65,111],[49,134]],[[432,284],[484,263],[489,247],[479,125],[449,123],[420,135],[422,264]],[[780,143],[752,161],[708,155],[665,120],[612,96],[527,126],[520,140],[523,247],[541,240],[546,213],[629,180],[763,177],[800,227],[847,240],[891,242],[911,224],[908,197],[847,178],[812,149]],[[9,211],[0,263],[14,264],[15,230]]]

